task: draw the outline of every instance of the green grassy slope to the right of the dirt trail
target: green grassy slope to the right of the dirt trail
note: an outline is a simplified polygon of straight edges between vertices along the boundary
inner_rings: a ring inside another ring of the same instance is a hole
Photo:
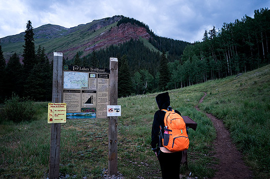
[[[213,84],[216,87],[213,87]],[[222,119],[255,179],[270,178],[270,65],[205,83],[203,110]]]

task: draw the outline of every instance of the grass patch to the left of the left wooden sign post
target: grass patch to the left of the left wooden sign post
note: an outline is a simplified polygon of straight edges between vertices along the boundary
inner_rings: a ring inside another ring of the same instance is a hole
[[[44,108],[44,105],[38,106]],[[1,178],[40,178],[44,175],[50,150],[45,122],[5,121],[0,124]]]

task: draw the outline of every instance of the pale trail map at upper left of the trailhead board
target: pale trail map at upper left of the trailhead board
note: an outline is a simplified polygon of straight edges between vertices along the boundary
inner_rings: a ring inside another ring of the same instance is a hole
[[[64,88],[87,89],[88,73],[64,71]]]

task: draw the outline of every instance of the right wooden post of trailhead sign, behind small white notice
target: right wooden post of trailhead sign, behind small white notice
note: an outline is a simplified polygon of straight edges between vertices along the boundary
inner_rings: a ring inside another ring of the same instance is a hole
[[[110,58],[110,104],[117,105],[117,86],[118,86],[118,60]],[[117,175],[117,116],[109,118],[109,156],[108,156],[108,173]]]

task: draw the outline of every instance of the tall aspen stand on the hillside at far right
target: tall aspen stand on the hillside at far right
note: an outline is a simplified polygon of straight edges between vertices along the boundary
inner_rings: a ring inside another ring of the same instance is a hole
[[[191,85],[220,79],[270,63],[270,10],[254,11],[220,30],[205,31],[202,42],[188,45],[180,62],[174,62],[170,86]],[[179,72],[179,73],[177,73]]]

